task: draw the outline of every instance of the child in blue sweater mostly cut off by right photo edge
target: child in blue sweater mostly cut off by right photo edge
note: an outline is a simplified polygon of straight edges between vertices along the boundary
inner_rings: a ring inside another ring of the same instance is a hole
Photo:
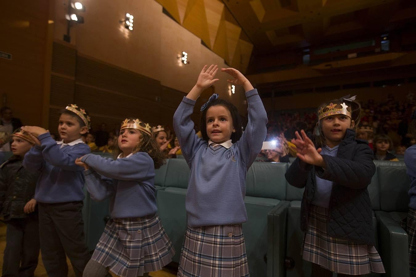
[[[416,109],[412,114],[412,122],[410,123],[410,131],[416,138]],[[410,178],[410,203],[407,213],[406,232],[409,235],[409,267],[410,276],[416,276],[416,145],[406,149],[404,152],[404,162],[407,167],[407,174]]]

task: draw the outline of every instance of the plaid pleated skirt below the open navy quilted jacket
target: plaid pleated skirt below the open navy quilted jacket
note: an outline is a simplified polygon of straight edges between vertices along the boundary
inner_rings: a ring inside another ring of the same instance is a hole
[[[327,234],[328,209],[311,205],[308,230],[303,242],[303,259],[332,272],[349,275],[384,273],[376,248]]]

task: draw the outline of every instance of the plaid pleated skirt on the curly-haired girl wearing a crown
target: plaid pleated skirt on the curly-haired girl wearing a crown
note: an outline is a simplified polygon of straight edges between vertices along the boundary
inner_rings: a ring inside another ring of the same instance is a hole
[[[92,260],[122,277],[161,270],[175,254],[157,215],[113,218],[107,222]]]

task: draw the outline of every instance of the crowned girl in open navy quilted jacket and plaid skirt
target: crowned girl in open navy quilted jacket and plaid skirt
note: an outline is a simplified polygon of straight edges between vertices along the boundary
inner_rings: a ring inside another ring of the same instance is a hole
[[[373,151],[356,140],[360,106],[355,97],[324,103],[318,108],[315,136],[304,130],[292,140],[297,158],[287,181],[305,187],[301,206],[303,259],[312,275],[326,277],[384,272],[374,247],[372,209],[367,191],[376,170]]]

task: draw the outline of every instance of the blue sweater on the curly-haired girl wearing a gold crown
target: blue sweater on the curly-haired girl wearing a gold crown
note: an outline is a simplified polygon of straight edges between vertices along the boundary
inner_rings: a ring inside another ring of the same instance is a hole
[[[101,201],[110,197],[112,218],[156,213],[155,169],[149,154],[136,152],[116,160],[88,154],[82,162],[91,168],[84,172],[91,198]]]

